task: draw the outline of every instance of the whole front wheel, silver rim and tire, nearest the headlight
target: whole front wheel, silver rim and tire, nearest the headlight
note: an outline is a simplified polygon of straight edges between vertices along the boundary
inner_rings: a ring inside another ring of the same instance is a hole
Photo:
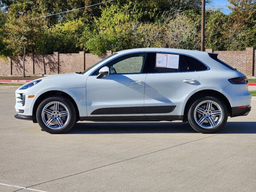
[[[36,120],[42,130],[51,134],[65,133],[76,122],[76,110],[72,102],[63,96],[43,100],[37,108]]]

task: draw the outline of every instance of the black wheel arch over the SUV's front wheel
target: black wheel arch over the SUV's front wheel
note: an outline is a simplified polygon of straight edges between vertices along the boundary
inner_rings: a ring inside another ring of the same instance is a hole
[[[68,100],[70,100],[72,102],[72,104],[74,105],[75,107],[75,110],[76,110],[76,121],[79,120],[80,118],[80,115],[79,115],[79,110],[78,110],[78,106],[75,102],[75,100],[67,93],[63,92],[63,91],[59,91],[59,90],[51,90],[51,91],[47,91],[47,92],[44,92],[43,94],[41,94],[35,101],[34,103],[34,106],[33,106],[33,110],[32,110],[32,119],[33,119],[33,122],[37,122],[36,120],[36,110],[39,106],[39,104],[45,99],[45,98],[48,98],[48,97],[51,97],[51,96],[64,96],[66,97]]]

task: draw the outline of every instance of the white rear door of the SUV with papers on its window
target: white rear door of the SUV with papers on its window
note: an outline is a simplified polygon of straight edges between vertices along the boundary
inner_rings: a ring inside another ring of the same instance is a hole
[[[157,67],[157,54],[148,53],[144,68],[147,74],[145,116],[171,115],[179,119],[185,98],[193,94],[199,84],[199,76],[193,66],[188,65],[187,56],[170,55],[178,58],[178,68]]]

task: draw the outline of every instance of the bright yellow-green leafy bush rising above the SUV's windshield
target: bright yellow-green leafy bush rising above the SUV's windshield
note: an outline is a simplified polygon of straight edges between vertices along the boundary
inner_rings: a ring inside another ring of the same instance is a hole
[[[132,47],[129,29],[135,14],[130,14],[132,8],[126,5],[119,8],[112,4],[102,8],[102,15],[95,19],[93,32],[87,35],[85,46],[93,54],[105,54],[106,50],[114,52]]]

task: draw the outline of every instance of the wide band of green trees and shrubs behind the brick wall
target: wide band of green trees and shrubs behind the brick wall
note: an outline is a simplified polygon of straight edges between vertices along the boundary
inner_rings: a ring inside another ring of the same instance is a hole
[[[141,47],[200,49],[201,0],[115,0],[31,20],[100,0],[0,0],[0,56],[71,53]],[[256,48],[255,0],[229,0],[231,14],[206,11],[206,48]],[[11,6],[10,6],[11,5]]]

